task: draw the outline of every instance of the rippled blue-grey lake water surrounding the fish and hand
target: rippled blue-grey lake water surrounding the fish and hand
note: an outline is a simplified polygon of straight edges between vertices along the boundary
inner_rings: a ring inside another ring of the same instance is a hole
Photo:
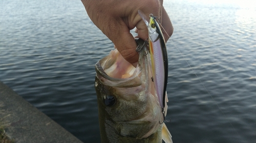
[[[164,6],[173,141],[256,142],[255,4]],[[0,2],[0,80],[83,142],[100,142],[94,65],[111,49],[79,0]]]

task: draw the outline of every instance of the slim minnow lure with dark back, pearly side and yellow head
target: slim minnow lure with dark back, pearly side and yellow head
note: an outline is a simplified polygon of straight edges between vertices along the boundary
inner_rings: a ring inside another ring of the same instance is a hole
[[[138,11],[139,15],[145,22],[148,28],[148,44],[150,46],[153,79],[158,95],[158,100],[164,113],[165,94],[168,77],[168,59],[166,45],[161,28],[158,24],[159,18],[150,14],[150,20],[142,11]]]

